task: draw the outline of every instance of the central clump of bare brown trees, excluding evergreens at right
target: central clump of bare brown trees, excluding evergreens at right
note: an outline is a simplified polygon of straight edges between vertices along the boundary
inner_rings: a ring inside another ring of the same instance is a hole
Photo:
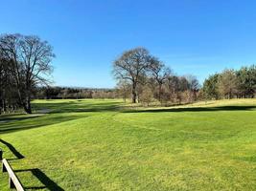
[[[132,103],[149,105],[153,100],[161,104],[193,102],[198,99],[199,83],[194,75],[178,76],[145,48],[123,53],[113,62],[118,90]]]

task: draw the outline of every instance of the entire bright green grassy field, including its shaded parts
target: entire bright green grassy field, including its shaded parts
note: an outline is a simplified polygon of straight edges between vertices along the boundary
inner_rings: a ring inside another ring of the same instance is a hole
[[[256,190],[256,99],[33,105],[32,116],[0,117],[0,147],[28,190]]]

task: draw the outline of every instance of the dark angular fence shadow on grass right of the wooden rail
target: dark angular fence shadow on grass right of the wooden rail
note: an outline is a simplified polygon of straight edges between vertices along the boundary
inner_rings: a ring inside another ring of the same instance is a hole
[[[15,173],[19,172],[31,172],[37,180],[39,180],[43,185],[42,186],[25,186],[24,188],[31,190],[39,190],[39,189],[48,189],[51,191],[63,191],[64,189],[58,186],[58,184],[51,180],[47,175],[45,175],[40,169],[25,169],[25,170],[15,170]]]

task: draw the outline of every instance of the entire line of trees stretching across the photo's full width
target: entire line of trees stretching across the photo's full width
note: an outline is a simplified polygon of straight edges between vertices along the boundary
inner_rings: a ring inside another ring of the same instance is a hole
[[[212,74],[200,87],[196,76],[175,74],[147,49],[122,53],[114,62],[115,89],[52,87],[53,47],[35,35],[0,35],[0,114],[23,108],[32,113],[34,98],[123,98],[161,105],[201,99],[249,98],[256,95],[256,66]]]

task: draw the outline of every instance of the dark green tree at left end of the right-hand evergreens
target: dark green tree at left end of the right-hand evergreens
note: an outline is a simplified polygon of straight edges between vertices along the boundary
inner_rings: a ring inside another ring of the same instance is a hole
[[[218,99],[220,97],[218,79],[219,74],[213,74],[204,80],[202,91],[206,99]]]

